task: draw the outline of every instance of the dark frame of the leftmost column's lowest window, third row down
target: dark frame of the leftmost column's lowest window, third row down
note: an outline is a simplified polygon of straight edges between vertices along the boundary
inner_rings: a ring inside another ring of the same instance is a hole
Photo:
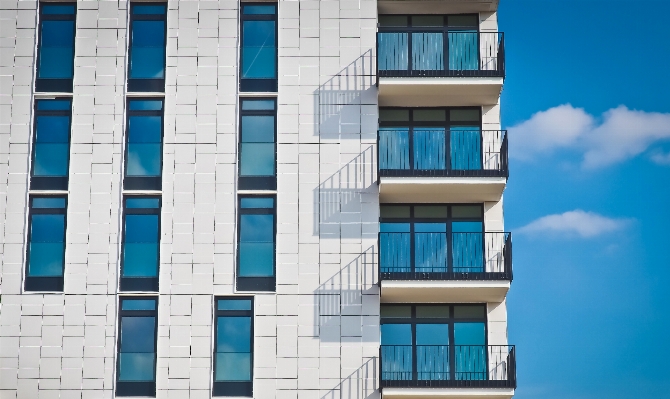
[[[64,208],[33,208],[33,200],[36,198],[62,198],[65,200]],[[63,292],[65,285],[65,252],[67,250],[67,195],[31,195],[28,199],[28,234],[26,240],[26,264],[25,264],[25,291]],[[33,215],[65,215],[63,221],[63,270],[60,276],[36,277],[30,276],[30,243],[32,239]]]

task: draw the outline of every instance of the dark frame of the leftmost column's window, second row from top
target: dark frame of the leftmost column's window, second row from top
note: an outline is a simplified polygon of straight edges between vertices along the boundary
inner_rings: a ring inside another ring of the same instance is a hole
[[[38,110],[37,104],[40,101],[50,101],[50,100],[67,100],[70,102],[70,109],[65,110]],[[70,150],[72,146],[72,97],[55,97],[53,99],[35,99],[33,104],[33,109],[35,116],[33,117],[33,142],[30,148],[30,189],[31,190],[67,190],[69,184],[69,171],[70,171]],[[67,134],[67,144],[68,144],[68,156],[67,156],[67,174],[62,176],[35,176],[35,145],[37,144],[37,118],[40,116],[67,116],[70,118],[70,124],[68,126]]]

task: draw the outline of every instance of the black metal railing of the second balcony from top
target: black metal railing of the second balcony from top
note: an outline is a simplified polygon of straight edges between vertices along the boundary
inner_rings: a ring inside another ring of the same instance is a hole
[[[506,130],[382,127],[380,177],[509,176]]]

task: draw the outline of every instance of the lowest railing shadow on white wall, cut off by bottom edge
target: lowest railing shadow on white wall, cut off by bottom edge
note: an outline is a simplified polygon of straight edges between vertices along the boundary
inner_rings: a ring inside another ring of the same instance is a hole
[[[379,359],[368,359],[321,399],[378,399]]]

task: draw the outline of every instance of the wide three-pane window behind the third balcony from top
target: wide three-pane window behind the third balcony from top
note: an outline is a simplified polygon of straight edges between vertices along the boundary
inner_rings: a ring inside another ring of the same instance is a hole
[[[483,273],[482,205],[381,205],[382,278],[434,273]]]

